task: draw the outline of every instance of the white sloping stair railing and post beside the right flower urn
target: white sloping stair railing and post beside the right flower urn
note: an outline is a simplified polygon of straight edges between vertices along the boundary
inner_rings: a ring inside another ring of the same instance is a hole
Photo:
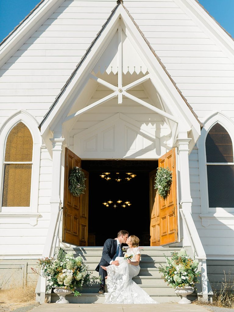
[[[197,228],[193,222],[193,217],[189,211],[183,211],[180,209],[180,214],[183,220],[184,227],[188,233],[188,238],[195,255],[195,259],[199,261],[201,266],[201,286],[202,292],[197,295],[202,295],[204,300],[208,300],[209,296],[213,295],[210,282],[207,277],[207,264],[206,264],[206,253],[202,246],[201,239],[198,235]],[[212,301],[212,298],[211,298]]]

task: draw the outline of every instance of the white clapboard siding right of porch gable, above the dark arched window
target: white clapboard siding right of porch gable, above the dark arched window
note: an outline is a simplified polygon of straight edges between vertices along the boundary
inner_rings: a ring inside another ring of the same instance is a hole
[[[128,0],[124,2],[198,117],[202,119],[210,115],[214,110],[213,105],[216,104],[221,104],[225,110],[226,105],[233,103],[232,62],[221,51],[221,47],[209,38],[208,33],[196,25],[196,21],[183,17],[184,12],[178,10],[181,8],[175,5],[175,2],[172,2],[170,10],[168,8],[163,13],[168,16],[169,21],[163,20],[163,24],[158,17],[159,2],[155,3],[154,5],[152,1],[138,1],[135,4]],[[168,5],[168,2],[163,1],[163,8],[165,3]],[[139,8],[143,13],[141,17],[138,15]],[[178,24],[178,20],[186,23]],[[213,86],[213,83],[217,85]],[[210,109],[201,108],[197,111],[196,105],[206,104],[210,105]]]

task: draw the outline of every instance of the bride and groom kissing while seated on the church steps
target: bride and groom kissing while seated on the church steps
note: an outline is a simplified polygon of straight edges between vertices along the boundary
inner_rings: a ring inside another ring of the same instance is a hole
[[[125,253],[122,244],[129,248]],[[125,230],[117,234],[117,239],[108,238],[103,246],[100,263],[96,271],[101,276],[100,294],[105,293],[105,282],[108,292],[105,303],[113,304],[149,304],[157,302],[142,290],[133,280],[140,271],[139,238]]]

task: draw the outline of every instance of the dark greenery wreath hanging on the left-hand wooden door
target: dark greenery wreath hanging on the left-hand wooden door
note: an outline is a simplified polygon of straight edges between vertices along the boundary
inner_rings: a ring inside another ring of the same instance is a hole
[[[71,169],[70,176],[68,178],[68,181],[70,183],[69,185],[69,191],[72,195],[78,197],[80,194],[84,194],[85,192],[85,174],[79,167],[74,167]]]

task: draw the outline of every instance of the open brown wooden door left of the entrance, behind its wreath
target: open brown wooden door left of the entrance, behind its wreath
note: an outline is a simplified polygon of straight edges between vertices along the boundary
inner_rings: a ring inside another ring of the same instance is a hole
[[[80,167],[81,159],[70,149],[65,150],[64,165],[64,198],[63,198],[63,236],[62,241],[87,246],[88,243],[88,172],[85,172],[85,193],[80,197],[73,196],[68,187],[68,178],[73,167]]]

